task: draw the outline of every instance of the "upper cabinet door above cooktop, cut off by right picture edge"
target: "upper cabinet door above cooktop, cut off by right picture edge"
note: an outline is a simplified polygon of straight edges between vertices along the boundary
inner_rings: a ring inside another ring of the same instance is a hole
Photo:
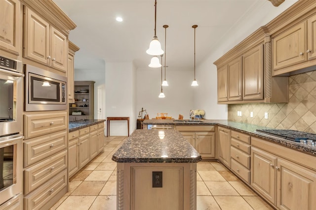
[[[308,60],[316,59],[316,15],[308,19]]]

